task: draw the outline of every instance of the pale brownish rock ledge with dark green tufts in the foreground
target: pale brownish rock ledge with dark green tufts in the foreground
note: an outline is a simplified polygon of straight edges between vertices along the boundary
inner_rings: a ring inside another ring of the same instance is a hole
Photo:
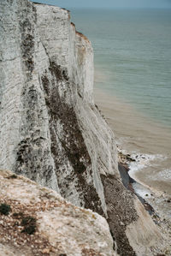
[[[0,170],[1,256],[117,255],[106,220],[53,190]]]

